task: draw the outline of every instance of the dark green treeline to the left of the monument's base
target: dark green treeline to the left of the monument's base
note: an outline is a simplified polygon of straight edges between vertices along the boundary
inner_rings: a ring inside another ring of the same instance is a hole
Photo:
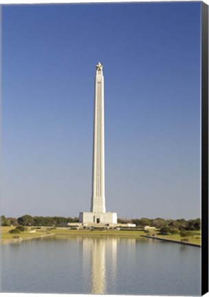
[[[19,218],[1,216],[1,225],[36,225],[36,226],[52,226],[52,225],[64,225],[65,223],[78,222],[78,217],[32,217],[30,214],[25,214]]]

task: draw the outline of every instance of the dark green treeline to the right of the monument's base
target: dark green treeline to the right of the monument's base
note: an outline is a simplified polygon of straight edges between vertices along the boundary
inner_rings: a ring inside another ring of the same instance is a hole
[[[148,218],[141,218],[141,219],[131,219],[131,220],[124,220],[118,219],[118,223],[135,223],[137,227],[144,228],[146,225],[150,227],[155,227],[157,229],[161,228],[170,228],[170,230],[200,230],[201,229],[201,219],[190,219],[186,221],[186,219],[148,219]]]

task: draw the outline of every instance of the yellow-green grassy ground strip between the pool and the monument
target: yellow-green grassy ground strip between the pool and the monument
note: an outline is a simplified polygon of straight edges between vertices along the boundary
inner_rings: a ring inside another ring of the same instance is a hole
[[[1,226],[1,243],[12,243],[21,240],[28,240],[39,238],[43,236],[52,236],[52,235],[80,235],[80,236],[123,236],[126,238],[129,237],[140,237],[141,235],[154,235],[155,237],[160,237],[162,239],[170,239],[173,241],[182,241],[180,234],[172,235],[162,235],[158,231],[152,232],[152,234],[146,234],[144,230],[116,230],[116,229],[78,229],[72,230],[69,228],[50,228],[50,227],[41,227],[41,228],[27,228],[24,232],[19,234],[11,234],[10,230],[14,229],[14,226]],[[32,230],[36,230],[31,233]],[[196,245],[201,245],[201,231],[190,231],[190,236],[187,236],[183,239],[187,243],[192,243]]]

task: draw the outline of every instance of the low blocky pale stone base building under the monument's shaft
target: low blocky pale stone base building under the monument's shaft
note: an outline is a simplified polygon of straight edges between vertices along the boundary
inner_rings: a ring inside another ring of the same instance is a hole
[[[116,212],[80,212],[80,223],[117,223]]]

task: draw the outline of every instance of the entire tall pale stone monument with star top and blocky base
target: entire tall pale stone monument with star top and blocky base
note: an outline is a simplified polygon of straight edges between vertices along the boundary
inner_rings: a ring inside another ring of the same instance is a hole
[[[104,76],[96,65],[94,97],[94,151],[91,211],[80,212],[80,223],[117,223],[116,212],[106,212],[104,195]]]

